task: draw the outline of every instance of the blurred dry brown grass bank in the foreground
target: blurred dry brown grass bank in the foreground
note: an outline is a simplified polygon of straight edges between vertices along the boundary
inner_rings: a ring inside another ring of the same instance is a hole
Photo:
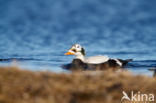
[[[120,103],[123,90],[156,94],[155,87],[155,79],[125,71],[56,74],[0,67],[0,103]]]

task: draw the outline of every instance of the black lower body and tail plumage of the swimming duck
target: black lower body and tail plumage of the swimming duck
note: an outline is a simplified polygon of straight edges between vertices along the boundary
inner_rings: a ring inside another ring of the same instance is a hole
[[[122,66],[125,66],[128,62],[132,61],[132,59],[121,60],[119,61],[122,63]],[[71,64],[63,65],[64,69],[68,70],[107,70],[107,69],[119,69],[121,66],[117,63],[114,59],[109,59],[104,63],[99,64],[90,64],[84,63],[80,59],[73,59]]]

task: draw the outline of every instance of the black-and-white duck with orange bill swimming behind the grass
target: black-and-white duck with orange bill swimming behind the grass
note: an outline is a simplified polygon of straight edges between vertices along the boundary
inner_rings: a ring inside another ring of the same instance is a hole
[[[109,58],[106,55],[86,57],[85,49],[80,44],[72,45],[65,55],[75,55],[72,63],[63,65],[63,68],[69,70],[106,70],[110,68],[115,70],[132,61],[132,59]]]

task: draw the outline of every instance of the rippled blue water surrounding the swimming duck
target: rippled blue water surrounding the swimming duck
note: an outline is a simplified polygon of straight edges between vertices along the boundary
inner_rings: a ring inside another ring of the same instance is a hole
[[[155,0],[0,0],[1,66],[64,71],[74,43],[87,56],[134,59],[128,69],[156,67]],[[16,63],[12,62],[16,59]]]

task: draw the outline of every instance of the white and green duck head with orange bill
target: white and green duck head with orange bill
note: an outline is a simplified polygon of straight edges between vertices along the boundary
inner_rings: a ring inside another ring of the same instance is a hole
[[[68,52],[65,53],[65,55],[75,55],[77,59],[81,59],[83,61],[85,56],[85,50],[80,44],[74,44],[68,50]]]

